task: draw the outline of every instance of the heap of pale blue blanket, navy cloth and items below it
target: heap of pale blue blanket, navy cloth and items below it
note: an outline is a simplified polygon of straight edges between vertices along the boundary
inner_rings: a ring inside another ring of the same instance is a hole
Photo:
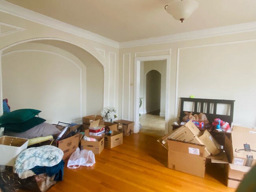
[[[21,186],[45,192],[63,180],[65,162],[62,158],[63,151],[55,146],[28,148],[18,155],[13,172],[21,179]]]

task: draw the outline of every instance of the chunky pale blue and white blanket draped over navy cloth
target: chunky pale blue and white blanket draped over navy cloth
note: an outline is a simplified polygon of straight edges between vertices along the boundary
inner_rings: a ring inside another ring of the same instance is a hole
[[[54,166],[58,164],[62,158],[63,151],[55,146],[45,145],[28,148],[18,155],[13,170],[21,178],[26,170],[30,170],[35,166]]]

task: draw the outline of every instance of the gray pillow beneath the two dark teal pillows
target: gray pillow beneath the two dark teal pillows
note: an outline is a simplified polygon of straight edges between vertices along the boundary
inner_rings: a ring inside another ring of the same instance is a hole
[[[5,131],[4,135],[11,136],[11,137],[19,137],[19,138],[35,138],[35,137],[45,137],[48,135],[54,135],[58,133],[61,133],[61,131],[59,131],[59,129],[57,129],[54,125],[44,122],[21,133]]]

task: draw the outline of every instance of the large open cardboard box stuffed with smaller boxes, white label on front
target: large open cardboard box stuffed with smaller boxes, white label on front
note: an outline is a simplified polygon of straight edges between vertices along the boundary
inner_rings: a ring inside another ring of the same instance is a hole
[[[158,140],[168,150],[168,168],[204,177],[206,157],[220,153],[220,145],[192,121]]]

